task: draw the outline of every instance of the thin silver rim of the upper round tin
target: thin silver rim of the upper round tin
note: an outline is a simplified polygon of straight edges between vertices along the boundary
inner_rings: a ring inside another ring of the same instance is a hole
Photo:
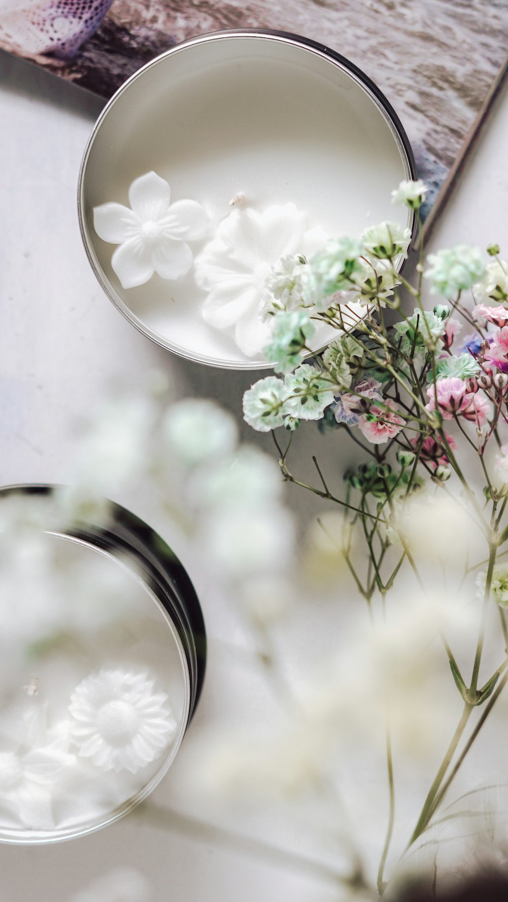
[[[180,357],[183,360],[189,360],[195,364],[204,364],[206,366],[212,366],[219,370],[234,370],[234,371],[256,371],[256,370],[272,370],[273,364],[265,361],[219,361],[215,357],[208,357],[206,354],[189,354],[185,351],[184,348],[179,347],[178,345],[173,345],[170,340],[165,339],[163,336],[159,335],[157,332],[154,332],[150,327],[146,326],[143,323],[143,320],[139,319],[134,315],[131,309],[127,307],[124,301],[119,297],[116,291],[111,286],[110,282],[105,279],[101,267],[97,262],[96,255],[94,253],[93,247],[88,239],[87,227],[85,225],[85,200],[84,200],[84,185],[87,171],[87,163],[88,157],[91,152],[93,143],[96,139],[97,132],[101,127],[103,121],[106,119],[109,111],[115,105],[116,101],[119,97],[121,97],[124,92],[137,80],[137,78],[141,78],[143,73],[148,69],[151,69],[152,66],[157,66],[161,60],[165,60],[167,57],[171,56],[173,53],[179,53],[182,50],[185,50],[187,47],[194,46],[196,44],[205,43],[208,41],[227,41],[232,38],[259,38],[261,40],[270,40],[270,41],[279,41],[281,43],[290,44],[292,46],[300,47],[300,49],[308,51],[310,53],[314,53],[317,56],[328,60],[333,65],[337,66],[337,69],[340,69],[342,72],[346,73],[349,78],[352,78],[356,84],[361,87],[365,94],[367,94],[374,103],[374,106],[377,107],[379,112],[383,115],[383,119],[385,123],[390,128],[390,131],[393,134],[393,138],[395,139],[395,143],[399,149],[401,154],[401,159],[403,163],[403,167],[405,170],[406,179],[416,179],[417,170],[416,170],[416,162],[414,160],[413,152],[411,150],[411,143],[409,138],[405,132],[405,129],[402,126],[401,120],[398,115],[395,113],[393,106],[384,97],[383,92],[374,84],[374,82],[365,75],[365,72],[362,69],[359,69],[355,63],[350,60],[346,60],[346,57],[341,56],[340,53],[331,50],[329,47],[326,47],[324,44],[319,44],[317,41],[312,41],[309,38],[301,37],[298,34],[293,34],[292,32],[279,32],[279,31],[271,31],[269,29],[257,29],[257,28],[245,28],[245,29],[227,29],[225,31],[219,32],[208,32],[207,34],[201,34],[196,38],[189,38],[188,41],[180,41],[180,43],[175,44],[174,47],[171,47],[170,50],[164,51],[159,56],[155,57],[150,62],[145,63],[141,69],[138,69],[134,74],[127,78],[123,85],[121,85],[111,99],[107,102],[104,107],[102,113],[99,115],[97,122],[94,124],[92,132],[88,138],[88,143],[85,148],[85,152],[83,154],[83,159],[81,161],[81,165],[79,167],[79,181],[78,181],[78,218],[79,218],[79,231],[81,233],[81,240],[84,244],[85,251],[88,256],[88,262],[97,278],[99,285],[102,290],[105,292],[106,297],[109,298],[112,303],[115,305],[120,313],[127,319],[127,321],[141,332],[143,336],[149,338],[155,345],[162,347],[166,351],[170,351],[171,354],[175,354],[177,357]],[[417,230],[417,219],[414,214],[414,211],[408,209],[408,218],[407,218],[407,226],[411,231],[411,246],[414,242],[416,230]],[[402,261],[399,272],[403,269],[404,262]],[[322,347],[317,348],[315,351],[312,351],[311,354],[307,354],[305,359],[312,358],[317,354],[321,354],[326,350],[329,342]]]

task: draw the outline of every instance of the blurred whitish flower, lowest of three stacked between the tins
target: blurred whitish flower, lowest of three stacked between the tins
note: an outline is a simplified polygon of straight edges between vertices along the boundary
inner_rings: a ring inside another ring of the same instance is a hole
[[[291,514],[275,504],[261,510],[219,509],[205,521],[202,533],[210,560],[238,578],[282,570],[291,560],[293,540]]]

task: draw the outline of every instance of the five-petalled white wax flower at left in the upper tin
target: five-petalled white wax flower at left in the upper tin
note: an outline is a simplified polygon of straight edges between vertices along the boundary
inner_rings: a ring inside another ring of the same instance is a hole
[[[111,265],[123,288],[143,285],[157,272],[179,279],[192,266],[188,241],[200,241],[209,228],[208,213],[196,200],[170,206],[170,186],[156,172],[134,179],[129,189],[132,209],[111,201],[94,207],[99,238],[119,244]]]

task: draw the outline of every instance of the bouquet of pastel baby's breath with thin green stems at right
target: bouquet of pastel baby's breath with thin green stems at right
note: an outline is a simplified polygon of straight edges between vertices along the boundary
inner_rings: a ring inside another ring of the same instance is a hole
[[[426,192],[420,180],[393,191],[393,202],[414,210],[418,226]],[[508,263],[496,244],[485,257],[459,244],[425,262],[420,235],[412,284],[399,272],[410,244],[408,228],[383,222],[359,239],[329,241],[309,260],[286,257],[273,267],[265,302],[272,340],[264,354],[279,375],[245,392],[244,416],[254,429],[272,431],[284,480],[342,511],[339,529],[326,517],[321,528],[365,599],[374,633],[386,637],[390,598],[404,574],[413,581],[406,590],[408,610],[411,594],[418,594],[429,611],[429,594],[439,590],[441,601],[454,599],[460,616],[466,613],[473,624],[475,639],[464,653],[449,639],[450,622],[435,623],[460,713],[443,727],[448,748],[407,837],[411,846],[436,818],[508,682]],[[426,286],[439,300],[432,310],[424,305]],[[334,327],[337,337],[309,363],[309,338],[321,323]],[[304,420],[361,449],[361,463],[344,475],[342,494],[316,456],[314,484],[294,474],[291,440]],[[360,546],[365,553],[358,553]],[[485,667],[487,634],[498,656],[494,667]],[[406,637],[410,657],[411,648]],[[393,649],[387,651],[392,665]],[[395,699],[407,679],[402,670],[387,676],[391,666],[376,671],[386,713],[390,799],[380,894],[393,837]],[[418,707],[418,693],[412,697]],[[403,716],[407,724],[411,713]]]

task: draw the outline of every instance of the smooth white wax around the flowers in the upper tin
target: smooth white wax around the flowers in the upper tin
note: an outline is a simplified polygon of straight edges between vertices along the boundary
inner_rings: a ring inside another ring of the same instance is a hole
[[[123,290],[111,268],[114,245],[93,229],[93,207],[128,205],[129,185],[148,170],[169,181],[172,201],[202,203],[213,230],[238,193],[260,210],[292,202],[329,237],[357,236],[384,219],[408,222],[407,209],[391,204],[391,190],[409,177],[400,144],[372,97],[328,59],[276,39],[229,37],[146,69],[117,97],[91,146],[85,230],[115,302],[163,345],[208,363],[256,365],[203,321],[206,295],[192,272]],[[195,253],[202,244],[192,244]]]

